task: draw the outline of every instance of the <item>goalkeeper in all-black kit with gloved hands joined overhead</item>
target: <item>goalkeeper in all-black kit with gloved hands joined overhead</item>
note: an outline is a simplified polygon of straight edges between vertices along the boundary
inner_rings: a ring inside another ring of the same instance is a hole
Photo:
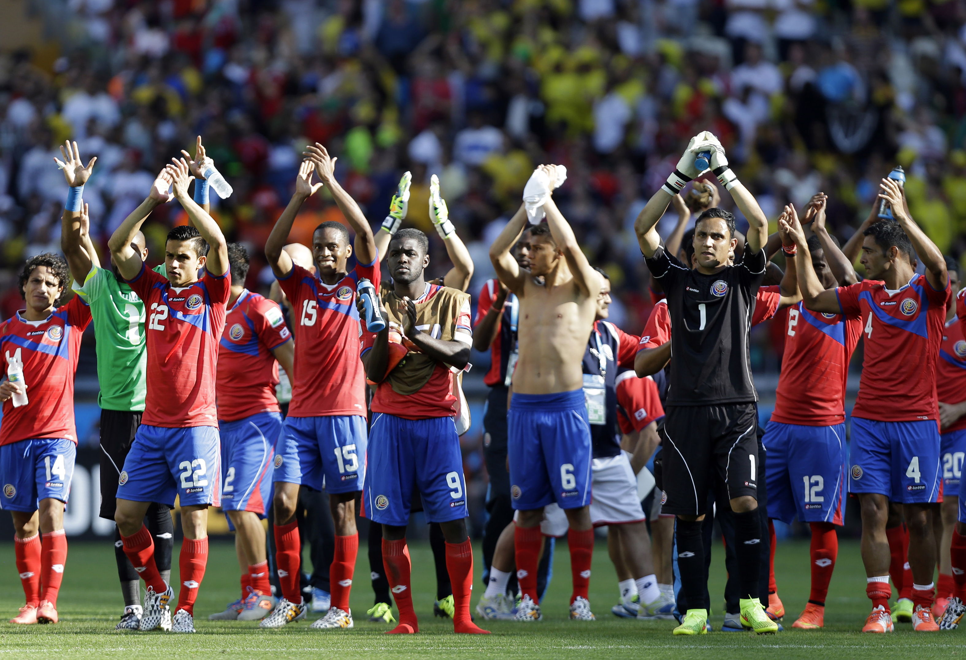
[[[654,226],[671,197],[701,172],[696,154],[711,152],[711,166],[750,227],[744,258],[728,266],[734,249],[734,216],[721,209],[698,215],[696,268],[690,269],[662,247]],[[663,472],[667,502],[662,510],[677,520],[677,560],[681,588],[690,604],[706,590],[701,521],[711,486],[719,502],[734,511],[742,623],[758,633],[778,625],[758,600],[761,525],[757,508],[757,394],[748,331],[754,296],[765,272],[768,221],[752,194],[727,165],[725,150],[705,131],[692,139],[677,169],[640,212],[635,230],[648,270],[668,297],[672,352],[668,407],[663,429]],[[704,584],[702,584],[702,582]],[[706,632],[707,610],[688,610],[675,635]]]

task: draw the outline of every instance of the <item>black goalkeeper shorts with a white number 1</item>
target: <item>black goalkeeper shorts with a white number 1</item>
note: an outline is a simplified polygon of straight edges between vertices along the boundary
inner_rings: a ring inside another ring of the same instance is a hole
[[[719,501],[757,498],[757,407],[672,406],[661,431],[662,513],[701,515],[709,489]]]

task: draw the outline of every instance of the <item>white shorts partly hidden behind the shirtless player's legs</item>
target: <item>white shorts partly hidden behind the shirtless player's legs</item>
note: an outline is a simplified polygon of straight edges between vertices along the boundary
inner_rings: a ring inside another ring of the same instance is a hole
[[[631,461],[625,452],[609,458],[593,459],[590,472],[590,520],[594,527],[647,520],[638,500],[638,477],[631,469]],[[555,503],[544,507],[540,531],[545,536],[563,536],[569,527],[563,509]]]

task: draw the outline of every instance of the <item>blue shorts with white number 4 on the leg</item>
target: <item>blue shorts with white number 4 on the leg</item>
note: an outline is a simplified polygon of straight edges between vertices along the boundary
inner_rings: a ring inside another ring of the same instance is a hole
[[[849,493],[878,493],[903,504],[939,502],[942,483],[935,419],[852,417],[850,459]]]

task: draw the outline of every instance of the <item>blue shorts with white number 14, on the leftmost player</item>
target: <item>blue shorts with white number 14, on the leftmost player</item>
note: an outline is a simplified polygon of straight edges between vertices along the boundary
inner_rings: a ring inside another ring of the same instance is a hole
[[[65,438],[21,440],[0,445],[0,509],[32,513],[38,502],[67,502],[77,445]]]

